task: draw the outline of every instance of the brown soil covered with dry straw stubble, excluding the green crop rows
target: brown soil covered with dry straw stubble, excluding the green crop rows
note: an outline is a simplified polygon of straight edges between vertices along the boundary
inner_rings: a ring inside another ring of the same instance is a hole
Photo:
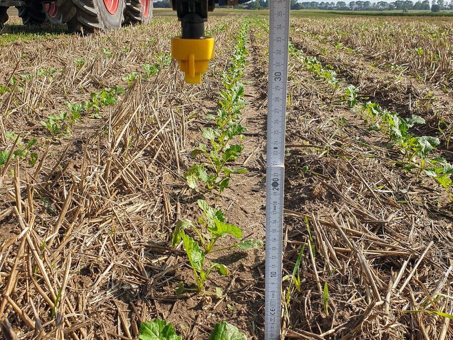
[[[0,168],[0,318],[19,338],[137,338],[140,322],[156,317],[184,339],[206,339],[223,320],[247,338],[264,338],[264,248],[209,255],[231,274],[207,283],[208,291],[222,288],[222,298],[206,298],[176,294],[180,282],[193,287],[193,278],[184,252],[170,247],[176,221],[198,218],[200,198],[247,237],[265,239],[267,36],[252,19],[242,78],[245,148],[235,161],[248,171],[234,177],[222,199],[190,190],[182,177],[201,129],[211,124],[205,115],[216,111],[220,76],[243,20],[210,19],[217,55],[197,86],[183,83],[175,61],[162,62],[179,29],[166,15],[87,37],[48,28],[16,37],[20,26],[7,27],[0,85],[23,80],[0,97],[0,150],[13,147],[13,131],[25,141],[37,138],[39,157],[35,166],[24,159]],[[390,87],[387,73],[364,72],[369,60],[361,55],[338,58],[329,56],[329,44],[292,40],[304,55],[338,63],[340,88],[354,82],[389,110],[416,93],[415,86]],[[328,53],[317,53],[319,47]],[[158,74],[145,77],[145,63],[157,63]],[[453,338],[441,314],[453,310],[447,194],[433,179],[405,171],[385,136],[337,100],[339,89],[297,58],[289,66],[284,337]],[[50,67],[57,71],[49,74]],[[128,82],[133,72],[141,77]],[[124,94],[102,108],[102,117],[84,116],[70,136],[52,139],[40,124],[66,102],[115,85]],[[451,110],[450,94],[439,97],[439,107]],[[433,110],[416,109],[434,119]],[[435,152],[451,160],[446,140]],[[290,276],[301,249],[296,288]]]

